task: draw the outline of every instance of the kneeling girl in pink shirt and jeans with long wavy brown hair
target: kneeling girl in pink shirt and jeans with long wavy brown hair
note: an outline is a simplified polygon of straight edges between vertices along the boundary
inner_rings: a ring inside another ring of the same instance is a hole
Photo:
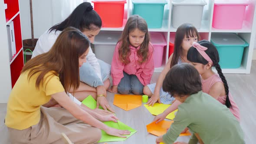
[[[143,93],[154,72],[153,46],[149,41],[146,21],[138,15],[130,16],[115,47],[111,64],[113,86],[109,92]]]

